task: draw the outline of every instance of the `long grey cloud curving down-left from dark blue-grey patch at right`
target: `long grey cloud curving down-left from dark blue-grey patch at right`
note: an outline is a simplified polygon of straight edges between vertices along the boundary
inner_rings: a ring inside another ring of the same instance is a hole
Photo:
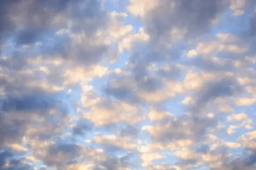
[[[176,119],[164,119],[160,125],[167,125],[166,130],[157,136],[151,136],[151,138],[161,143],[177,139],[194,139],[197,142],[203,140],[208,128],[215,127],[219,120],[218,116],[211,119],[201,115],[207,102],[216,97],[232,96],[240,91],[240,85],[232,78],[221,79],[217,82],[205,82],[195,94],[195,105],[187,108],[191,115],[183,115]],[[187,125],[185,126],[183,122],[187,122]],[[188,131],[191,133],[187,133]]]

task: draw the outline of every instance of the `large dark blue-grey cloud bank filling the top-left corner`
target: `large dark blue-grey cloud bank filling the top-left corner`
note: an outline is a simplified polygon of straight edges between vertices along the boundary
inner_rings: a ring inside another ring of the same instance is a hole
[[[102,54],[108,51],[107,45],[91,43],[98,29],[108,27],[109,15],[107,11],[102,10],[99,0],[2,0],[1,3],[1,44],[4,44],[11,35],[17,47],[33,45],[47,37],[55,37],[55,44],[47,43],[41,46],[41,54],[58,53],[69,62],[84,65],[99,62],[104,57]],[[68,20],[73,23],[71,31],[84,33],[90,40],[84,40],[83,45],[76,46],[71,44],[70,38],[58,41],[59,36],[55,35],[55,32],[60,28],[67,28]],[[29,57],[28,54],[23,56]],[[12,60],[17,59],[19,58],[12,56]]]

